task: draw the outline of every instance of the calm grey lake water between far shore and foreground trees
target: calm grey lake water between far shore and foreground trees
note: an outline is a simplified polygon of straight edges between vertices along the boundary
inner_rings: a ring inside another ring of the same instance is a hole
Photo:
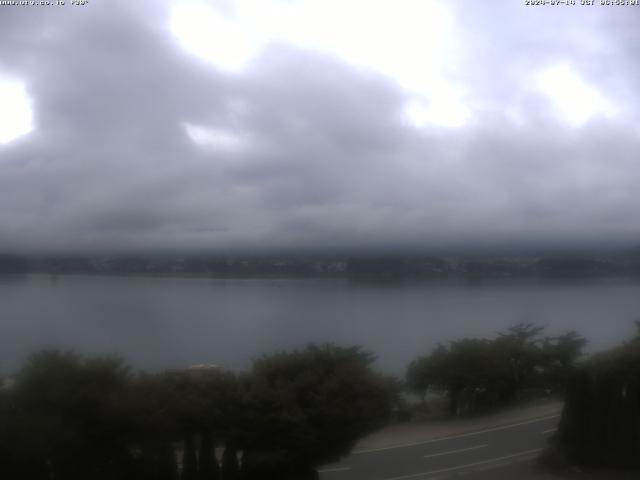
[[[519,322],[577,330],[598,350],[634,332],[628,281],[363,285],[346,280],[214,280],[29,275],[0,280],[0,372],[47,347],[115,353],[136,368],[245,369],[308,342],[362,345],[401,374],[417,355]]]

